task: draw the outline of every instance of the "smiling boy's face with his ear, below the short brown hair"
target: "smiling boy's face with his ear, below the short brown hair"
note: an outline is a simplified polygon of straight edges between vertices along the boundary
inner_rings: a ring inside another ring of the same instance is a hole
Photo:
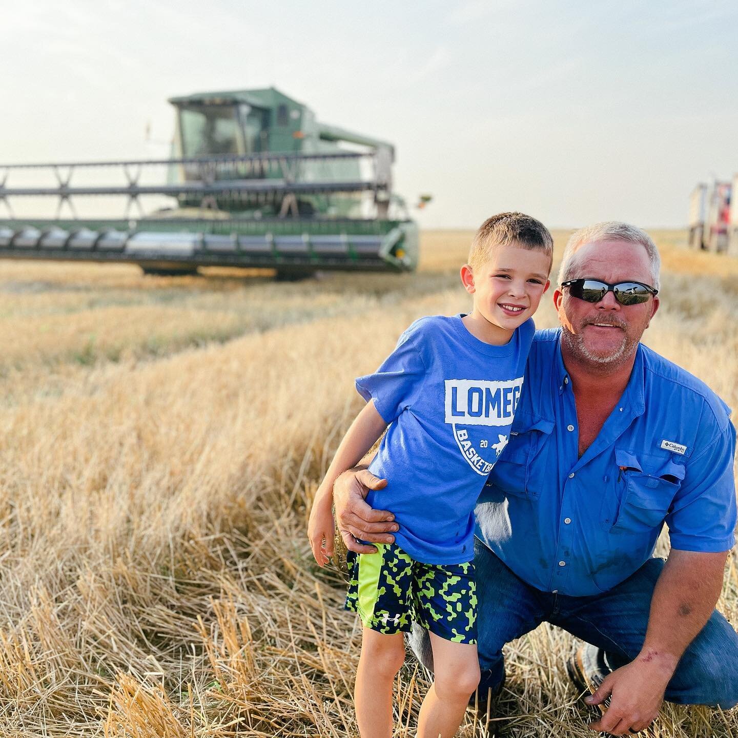
[[[550,256],[539,249],[495,246],[492,257],[476,271],[465,264],[461,281],[474,297],[472,313],[463,318],[472,335],[502,345],[537,310],[548,289]]]

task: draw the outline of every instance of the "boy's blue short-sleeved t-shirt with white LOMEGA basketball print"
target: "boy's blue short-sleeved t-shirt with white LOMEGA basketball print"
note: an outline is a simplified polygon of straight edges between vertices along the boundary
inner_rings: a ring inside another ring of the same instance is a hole
[[[393,511],[397,545],[427,564],[474,558],[474,506],[508,442],[535,330],[527,320],[493,346],[462,317],[416,320],[376,373],[356,379],[390,424],[369,466],[387,486],[367,502]]]

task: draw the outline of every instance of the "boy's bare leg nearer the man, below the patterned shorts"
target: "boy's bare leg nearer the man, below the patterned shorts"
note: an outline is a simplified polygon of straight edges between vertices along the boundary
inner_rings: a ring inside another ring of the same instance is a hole
[[[418,715],[418,738],[452,738],[479,684],[477,646],[429,635],[434,680]]]

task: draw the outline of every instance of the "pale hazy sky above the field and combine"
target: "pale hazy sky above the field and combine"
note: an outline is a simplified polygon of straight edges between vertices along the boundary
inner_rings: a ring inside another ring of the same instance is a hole
[[[0,4],[0,162],[167,156],[168,97],[275,86],[393,142],[421,227],[683,227],[738,171],[732,0]]]

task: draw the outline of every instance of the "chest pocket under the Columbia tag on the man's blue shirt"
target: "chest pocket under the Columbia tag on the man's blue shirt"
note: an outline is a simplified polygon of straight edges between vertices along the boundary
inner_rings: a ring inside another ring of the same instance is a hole
[[[615,449],[615,500],[603,500],[601,523],[609,531],[648,533],[672,505],[685,468],[671,457]],[[612,488],[610,488],[612,489]]]

